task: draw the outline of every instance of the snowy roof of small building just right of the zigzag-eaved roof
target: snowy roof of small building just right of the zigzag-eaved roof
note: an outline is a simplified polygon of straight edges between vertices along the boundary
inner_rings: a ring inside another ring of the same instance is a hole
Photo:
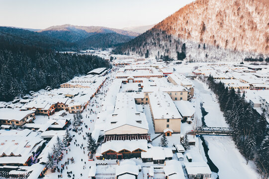
[[[153,160],[165,160],[166,158],[172,158],[173,152],[170,148],[154,146],[148,149],[147,152],[141,152],[141,158]]]

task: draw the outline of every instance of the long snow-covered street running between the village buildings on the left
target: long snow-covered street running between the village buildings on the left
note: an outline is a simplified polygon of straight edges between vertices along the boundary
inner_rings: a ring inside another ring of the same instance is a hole
[[[44,179],[57,179],[58,175],[62,175],[61,178],[68,179],[68,172],[72,172],[71,178],[75,179],[85,179],[88,178],[90,166],[92,164],[95,165],[95,161],[88,161],[88,151],[87,151],[87,140],[88,137],[86,132],[92,132],[96,115],[100,111],[101,102],[104,100],[105,93],[109,89],[110,85],[113,82],[113,74],[108,75],[105,83],[102,88],[99,90],[98,94],[95,95],[91,100],[90,104],[86,109],[82,112],[83,115],[83,124],[79,127],[79,131],[76,133],[74,131],[71,132],[71,136],[74,135],[73,140],[71,141],[71,145],[67,148],[67,153],[64,151],[63,159],[58,163],[58,168],[61,170],[61,165],[66,162],[68,165],[64,166],[63,172],[55,172],[51,173],[49,169],[45,174]],[[72,114],[68,114],[72,115]],[[73,115],[72,115],[73,117]],[[87,127],[86,127],[87,126]],[[72,124],[69,128],[73,128]],[[82,128],[82,129],[80,129]],[[85,138],[84,138],[85,137]],[[74,158],[74,163],[71,163],[71,158]],[[102,162],[102,161],[101,161]],[[105,161],[107,163],[107,161]],[[107,171],[106,168],[103,167],[103,171]],[[109,171],[109,170],[108,170]]]

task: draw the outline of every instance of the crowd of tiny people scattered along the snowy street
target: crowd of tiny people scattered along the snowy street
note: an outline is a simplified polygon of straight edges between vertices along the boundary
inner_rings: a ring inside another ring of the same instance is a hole
[[[96,120],[96,114],[101,109],[101,102],[104,100],[104,96],[106,95],[106,92],[109,90],[109,86],[112,84],[114,79],[113,74],[108,74],[105,82],[103,83],[103,86],[97,91],[95,96],[90,99],[90,103],[82,112],[83,119],[82,124],[78,128],[77,131],[74,132],[73,135],[73,141],[70,143],[70,146],[68,147],[68,150],[66,150],[66,156],[64,156],[63,159],[66,159],[64,162],[61,160],[59,164],[56,166],[56,172],[58,173],[58,179],[59,178],[72,178],[75,179],[83,178],[83,171],[85,171],[87,168],[87,136],[91,134],[92,129],[94,128],[94,121]],[[72,125],[70,126],[72,127]],[[72,156],[72,157],[68,157]],[[78,157],[80,157],[78,159]],[[73,165],[72,167],[69,167],[71,164],[75,164],[76,158],[77,162],[79,161],[79,164]],[[89,162],[88,162],[89,163]],[[82,170],[80,170],[82,168]],[[68,170],[69,169],[69,170]],[[78,170],[77,170],[78,169]],[[68,170],[66,173],[64,173],[64,170]],[[89,170],[87,170],[89,172]],[[75,175],[76,174],[76,175]]]

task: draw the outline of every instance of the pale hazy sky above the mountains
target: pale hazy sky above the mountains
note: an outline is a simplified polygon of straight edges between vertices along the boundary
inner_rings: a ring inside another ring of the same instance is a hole
[[[151,25],[193,0],[0,0],[0,26]]]

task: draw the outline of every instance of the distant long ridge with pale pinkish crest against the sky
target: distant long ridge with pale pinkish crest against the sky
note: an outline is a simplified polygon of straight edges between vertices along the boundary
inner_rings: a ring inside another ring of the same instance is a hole
[[[76,26],[70,24],[52,26],[38,32],[53,38],[58,38],[69,42],[75,42],[94,34],[117,33],[131,37],[136,37],[140,34],[137,32],[130,32],[126,30],[101,26]]]

